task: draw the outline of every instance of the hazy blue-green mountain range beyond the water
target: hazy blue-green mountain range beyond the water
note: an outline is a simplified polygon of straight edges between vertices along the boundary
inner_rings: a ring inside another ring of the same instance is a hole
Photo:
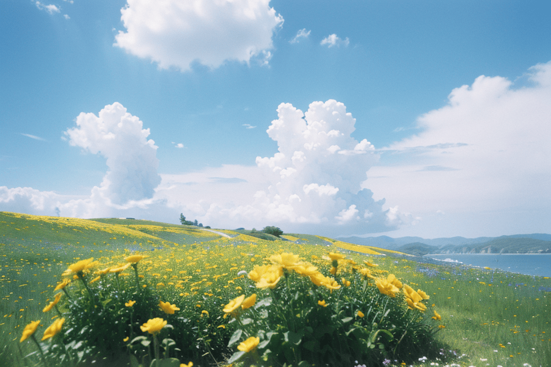
[[[500,237],[421,237],[392,238],[341,237],[339,240],[357,245],[382,247],[407,254],[551,254],[551,234],[513,234]]]

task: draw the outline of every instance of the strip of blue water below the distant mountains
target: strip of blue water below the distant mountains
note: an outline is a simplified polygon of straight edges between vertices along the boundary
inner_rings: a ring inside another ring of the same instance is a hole
[[[490,267],[513,273],[551,277],[551,254],[429,254],[427,258]]]

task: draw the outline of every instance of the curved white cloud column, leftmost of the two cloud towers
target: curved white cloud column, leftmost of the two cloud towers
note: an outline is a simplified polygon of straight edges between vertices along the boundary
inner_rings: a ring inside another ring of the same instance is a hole
[[[77,127],[65,135],[69,144],[100,154],[107,160],[107,173],[93,196],[99,195],[108,204],[125,205],[131,201],[150,199],[161,179],[157,173],[155,142],[147,139],[149,129],[142,121],[115,102],[103,108],[98,116],[80,113]]]

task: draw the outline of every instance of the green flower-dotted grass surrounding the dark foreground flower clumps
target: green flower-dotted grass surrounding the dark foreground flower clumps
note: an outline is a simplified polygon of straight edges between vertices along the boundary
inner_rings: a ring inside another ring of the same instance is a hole
[[[236,232],[224,232],[233,238],[220,238],[197,227],[158,222],[85,221],[0,212],[0,360],[10,366],[23,366],[29,360],[22,356],[35,352],[36,348],[30,343],[18,343],[21,331],[31,320],[42,319],[45,325],[50,324],[50,317],[42,314],[42,308],[48,299],[51,300],[52,287],[60,280],[61,272],[79,259],[94,256],[102,261],[115,261],[112,258],[120,259],[129,251],[150,252],[156,259],[162,258],[165,264],[158,271],[159,276],[150,276],[150,283],[168,283],[176,270],[183,269],[191,277],[185,283],[187,293],[192,283],[201,282],[204,274],[213,276],[222,272],[222,265],[212,267],[213,258],[229,249],[233,249],[235,256],[227,255],[223,271],[234,277],[237,271],[250,270],[255,264],[242,260],[243,256],[261,260],[260,256],[251,256],[255,251],[257,255],[264,254],[262,251],[288,250],[321,256],[337,250],[331,241],[304,234],[293,234],[299,238],[295,242],[255,239],[254,246],[258,247],[255,249],[247,245],[249,238],[244,240],[245,237]],[[175,254],[186,254],[192,259],[182,258],[183,255],[177,259]],[[419,287],[430,295],[426,303],[435,304],[445,326],[439,330],[437,338],[447,343],[458,356],[464,354],[455,363],[477,367],[487,364],[503,367],[525,363],[532,367],[549,365],[549,278],[452,264],[419,264],[409,256],[390,253],[365,256],[351,251],[349,254],[358,262],[366,258],[376,262],[381,269],[395,273],[412,287]],[[201,276],[193,273],[192,268],[201,269]],[[244,286],[244,283],[236,280],[235,284],[226,285],[230,287],[219,286],[223,299],[218,298],[213,307],[235,297],[235,287]],[[170,292],[177,298],[180,291]],[[190,297],[191,303],[205,305],[206,301],[199,297],[201,294],[188,293],[190,296],[186,297]],[[391,361],[396,365],[400,362]],[[432,362],[445,365],[442,361]],[[415,365],[429,366],[430,363],[419,361]]]

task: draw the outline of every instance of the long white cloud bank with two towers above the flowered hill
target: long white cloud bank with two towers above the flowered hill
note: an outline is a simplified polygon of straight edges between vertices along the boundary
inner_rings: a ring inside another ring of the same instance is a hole
[[[56,215],[57,207],[62,216],[168,222],[183,212],[213,227],[277,225],[320,234],[386,231],[404,222],[361,188],[378,156],[366,139],[352,138],[355,119],[334,100],[311,103],[306,113],[282,103],[267,130],[278,152],[257,157],[256,166],[163,174],[160,184],[149,130],[120,103],[105,106],[99,116],[81,113],[76,123],[66,132],[69,143],[107,159],[103,182],[89,197],[3,188],[0,210]]]

